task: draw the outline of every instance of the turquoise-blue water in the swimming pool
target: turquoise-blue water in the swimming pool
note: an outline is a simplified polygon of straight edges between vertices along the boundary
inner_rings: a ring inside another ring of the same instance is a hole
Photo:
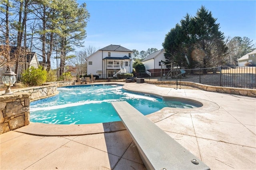
[[[194,108],[180,101],[124,91],[118,85],[82,85],[58,88],[54,97],[30,103],[30,121],[49,124],[90,124],[120,121],[111,101],[127,101],[144,115],[163,107]]]

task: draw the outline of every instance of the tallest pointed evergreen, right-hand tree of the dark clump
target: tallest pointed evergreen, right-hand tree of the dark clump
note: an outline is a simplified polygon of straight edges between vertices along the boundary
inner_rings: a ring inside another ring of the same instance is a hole
[[[219,31],[220,24],[216,24],[216,20],[212,17],[212,12],[208,12],[204,6],[191,20],[196,47],[192,57],[197,60],[197,67],[215,67],[224,63],[228,48],[224,43],[224,34]]]

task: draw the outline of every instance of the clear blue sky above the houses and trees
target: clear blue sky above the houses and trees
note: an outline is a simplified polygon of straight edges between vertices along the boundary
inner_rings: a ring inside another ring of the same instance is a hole
[[[186,14],[195,16],[203,5],[228,37],[248,37],[256,43],[256,1],[146,1],[78,0],[86,2],[90,21],[85,46],[96,49],[110,44],[138,51],[162,49],[165,35]]]

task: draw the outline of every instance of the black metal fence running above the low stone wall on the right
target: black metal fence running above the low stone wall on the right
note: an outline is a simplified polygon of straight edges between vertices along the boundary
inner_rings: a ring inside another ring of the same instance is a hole
[[[232,67],[211,67],[203,69],[180,69],[176,70],[175,76],[168,76],[168,71],[162,71],[154,74],[160,74],[159,81],[190,81],[204,85],[238,87],[245,89],[256,89],[256,67],[255,66],[232,66]],[[152,73],[151,73],[152,74]],[[151,77],[151,79],[154,79]]]

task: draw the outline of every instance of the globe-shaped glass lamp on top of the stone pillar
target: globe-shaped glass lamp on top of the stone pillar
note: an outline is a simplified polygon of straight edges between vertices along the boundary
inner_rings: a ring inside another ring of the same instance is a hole
[[[6,91],[3,95],[12,95],[10,87],[16,82],[16,74],[9,68],[2,76],[2,82],[6,85]]]

